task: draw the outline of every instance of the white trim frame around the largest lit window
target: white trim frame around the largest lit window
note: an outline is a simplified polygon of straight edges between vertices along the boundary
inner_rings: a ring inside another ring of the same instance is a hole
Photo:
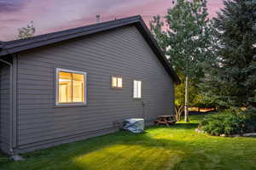
[[[59,72],[70,72],[84,75],[84,102],[72,102],[72,103],[59,103]],[[84,71],[73,71],[67,69],[56,68],[55,77],[55,105],[87,105],[87,73]]]

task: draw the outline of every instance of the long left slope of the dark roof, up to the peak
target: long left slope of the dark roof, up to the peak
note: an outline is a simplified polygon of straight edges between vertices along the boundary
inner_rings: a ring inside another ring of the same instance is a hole
[[[26,49],[38,48],[44,45],[65,41],[75,37],[82,37],[82,36],[87,36],[90,34],[101,32],[101,31],[108,31],[114,28],[118,28],[120,26],[128,26],[130,24],[138,22],[139,20],[141,20],[140,16],[133,16],[133,17],[127,18],[126,20],[122,20],[122,19],[111,20],[111,21],[96,24],[96,25],[83,26],[75,29],[70,29],[68,31],[53,32],[53,33],[26,38],[18,41],[2,42],[4,44],[4,48],[2,48],[2,50],[0,48],[0,56],[17,53],[20,51],[24,51]],[[82,30],[83,28],[84,30]],[[81,29],[81,31],[78,31],[79,29]]]

